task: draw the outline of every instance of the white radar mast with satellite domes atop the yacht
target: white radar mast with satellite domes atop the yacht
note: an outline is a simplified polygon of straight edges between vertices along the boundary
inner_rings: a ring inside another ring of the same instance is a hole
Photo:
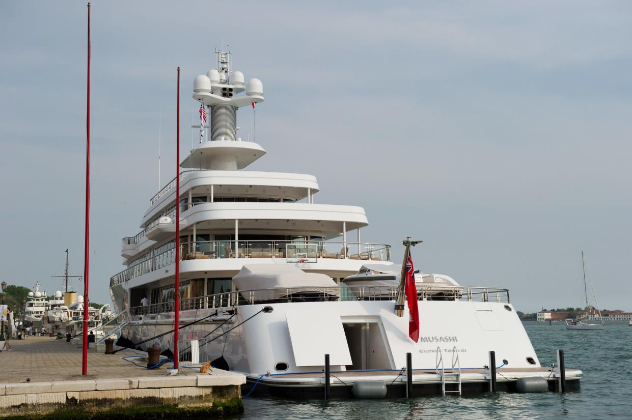
[[[194,169],[236,170],[245,168],[265,154],[257,143],[237,137],[237,110],[264,102],[264,85],[250,79],[244,86],[243,73],[231,71],[231,52],[216,50],[217,69],[200,74],[193,81],[193,99],[210,110],[210,141],[191,151],[181,166]],[[246,91],[246,95],[238,96]]]

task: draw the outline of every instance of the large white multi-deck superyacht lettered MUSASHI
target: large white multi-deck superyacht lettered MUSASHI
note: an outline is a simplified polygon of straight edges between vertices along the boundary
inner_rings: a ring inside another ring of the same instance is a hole
[[[560,371],[540,365],[506,289],[417,272],[421,332],[410,339],[408,313],[394,310],[401,266],[389,245],[362,239],[365,210],[317,202],[313,175],[247,169],[265,149],[238,136],[237,114],[262,105],[263,85],[231,69],[228,48],[216,54],[217,68],[193,82],[200,141],[181,162],[179,194],[171,180],[150,199],[141,231],[123,238],[126,267],[110,280],[120,346],[173,356],[178,258],[179,359],[244,373],[245,392],[320,396],[328,383],[346,396],[367,381],[393,396],[409,383],[418,394],[480,392],[500,364],[490,351],[503,361],[499,388],[515,390],[521,378],[556,386]],[[569,388],[580,378],[566,370]]]

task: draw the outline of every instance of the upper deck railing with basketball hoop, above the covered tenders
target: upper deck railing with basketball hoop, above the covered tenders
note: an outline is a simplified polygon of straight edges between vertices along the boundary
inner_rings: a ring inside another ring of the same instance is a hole
[[[114,274],[110,287],[174,264],[171,248]],[[322,259],[391,260],[391,246],[336,241],[197,241],[180,245],[180,260],[227,258],[283,258],[288,263],[317,263]]]

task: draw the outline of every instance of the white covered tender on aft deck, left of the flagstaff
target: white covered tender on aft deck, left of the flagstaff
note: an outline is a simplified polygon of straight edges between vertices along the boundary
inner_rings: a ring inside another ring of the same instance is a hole
[[[301,292],[320,292],[336,296],[340,293],[336,282],[326,274],[305,272],[292,265],[244,265],[233,277],[233,282],[241,291],[243,298],[255,301],[274,300]],[[246,290],[253,292],[244,292]]]

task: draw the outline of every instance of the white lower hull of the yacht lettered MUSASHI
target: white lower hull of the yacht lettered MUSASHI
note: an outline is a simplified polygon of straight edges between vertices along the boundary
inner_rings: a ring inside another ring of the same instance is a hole
[[[416,370],[423,373],[420,381],[432,379],[432,373],[440,388],[438,361],[442,361],[439,371],[441,366],[452,370],[453,364],[455,370],[471,370],[474,376],[463,382],[464,390],[487,391],[489,371],[486,373],[483,366],[489,365],[492,350],[496,360],[501,361],[498,365],[506,359],[506,368],[516,370],[511,376],[513,382],[520,375],[555,378],[550,368],[540,366],[525,329],[509,304],[419,301],[418,342],[408,337],[408,313],[397,317],[393,308],[394,301],[382,300],[270,303],[182,311],[180,325],[198,322],[180,330],[180,359],[186,365],[223,357],[229,370],[244,373],[250,382],[259,380],[261,391],[274,388],[279,395],[298,396],[301,392],[310,395],[306,389],[322,389],[320,372],[325,354],[331,355],[331,371],[338,372],[334,375],[346,375],[345,383],[366,380],[367,371],[385,371],[382,380],[392,383],[389,392],[394,395],[401,394],[401,381],[405,382],[401,369],[406,366],[406,353],[412,355],[415,375]],[[156,337],[159,335],[162,336]],[[169,354],[173,352],[173,313],[135,316],[123,327],[121,337],[119,344],[127,343],[140,350],[157,344]],[[314,378],[315,372],[319,375]],[[354,376],[353,372],[360,374]],[[579,383],[581,372],[574,372],[576,376],[567,378]],[[436,383],[422,382],[418,383],[420,393],[434,393]],[[507,390],[514,386],[506,385]]]

